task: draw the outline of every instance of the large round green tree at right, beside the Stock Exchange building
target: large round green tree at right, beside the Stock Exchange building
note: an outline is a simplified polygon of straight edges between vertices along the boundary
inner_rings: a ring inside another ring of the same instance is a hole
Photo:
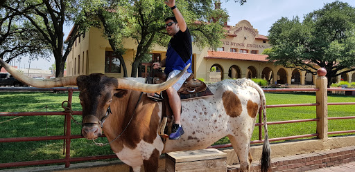
[[[269,30],[271,50],[266,51],[275,65],[316,74],[317,66],[331,77],[355,70],[355,8],[334,1],[320,10],[299,17],[282,17]]]

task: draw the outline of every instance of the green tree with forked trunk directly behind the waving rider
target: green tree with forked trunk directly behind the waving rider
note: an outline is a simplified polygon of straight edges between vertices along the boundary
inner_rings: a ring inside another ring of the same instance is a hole
[[[245,0],[236,1],[241,4]],[[203,48],[216,48],[223,38],[223,22],[227,21],[227,12],[214,9],[214,1],[180,0],[176,2],[193,36],[193,44]],[[123,55],[125,40],[134,39],[137,52],[132,62],[131,77],[136,77],[138,67],[153,46],[167,46],[170,37],[166,35],[164,19],[173,16],[171,9],[161,0],[146,1],[87,1],[87,14],[98,19],[103,28],[104,37],[109,41],[114,53],[121,61],[123,76],[127,69]],[[209,22],[210,19],[216,22]]]

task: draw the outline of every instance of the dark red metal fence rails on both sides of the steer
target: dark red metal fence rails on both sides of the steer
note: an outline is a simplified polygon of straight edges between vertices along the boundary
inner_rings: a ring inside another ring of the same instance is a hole
[[[28,91],[51,91],[51,90],[67,90],[68,91],[68,102],[71,102],[73,91],[78,91],[77,88],[0,88],[0,90],[14,91],[14,90],[28,90]],[[264,88],[264,92],[305,92],[311,91],[316,92],[319,91],[319,88]],[[354,89],[342,89],[342,88],[329,88],[328,90],[337,90],[337,91],[355,91]],[[328,103],[328,105],[354,105],[355,102],[346,102],[346,103]],[[294,106],[319,106],[320,104],[277,104],[277,105],[267,105],[266,108],[279,108],[279,107],[294,107]],[[74,111],[73,115],[82,115],[81,111]],[[33,166],[33,165],[41,165],[41,164],[56,164],[63,163],[65,167],[69,167],[71,162],[81,162],[88,160],[103,160],[116,158],[116,155],[98,155],[91,157],[70,157],[70,142],[72,139],[83,138],[81,135],[71,135],[71,115],[67,112],[28,112],[28,113],[8,113],[2,112],[1,116],[34,116],[34,115],[64,115],[65,116],[65,133],[64,135],[58,136],[42,136],[42,137],[14,137],[14,138],[0,138],[0,142],[29,142],[29,141],[41,141],[41,140],[65,140],[65,158],[58,160],[38,160],[38,161],[30,161],[30,162],[10,162],[10,163],[2,163],[0,164],[0,168],[9,168],[15,166]],[[329,117],[328,120],[343,120],[343,119],[354,119],[355,116],[352,117]],[[259,111],[259,122],[255,124],[259,126],[259,140],[253,140],[251,144],[259,144],[262,143],[263,140],[261,138],[261,127],[263,123],[261,122],[261,111]],[[289,120],[289,121],[279,121],[279,122],[267,122],[268,125],[272,124],[288,124],[295,122],[312,122],[312,121],[320,121],[320,119],[304,119],[304,120]],[[328,132],[328,135],[331,134],[339,134],[339,133],[355,133],[355,131],[334,131]],[[306,135],[295,135],[289,137],[279,137],[279,138],[271,138],[270,142],[280,141],[280,140],[291,140],[302,137],[318,137],[318,133],[306,134]],[[222,144],[222,145],[214,145],[209,146],[209,148],[225,148],[231,147],[231,144]]]

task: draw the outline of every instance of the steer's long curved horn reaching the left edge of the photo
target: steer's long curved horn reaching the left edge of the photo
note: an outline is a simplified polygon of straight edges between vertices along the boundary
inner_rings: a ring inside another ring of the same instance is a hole
[[[3,59],[0,59],[0,64],[8,70],[13,77],[18,79],[20,82],[27,84],[28,86],[33,86],[37,88],[52,88],[52,87],[60,87],[60,86],[76,86],[76,77],[60,77],[55,79],[34,79],[32,77],[28,77],[19,73],[15,68],[12,68],[8,65]]]

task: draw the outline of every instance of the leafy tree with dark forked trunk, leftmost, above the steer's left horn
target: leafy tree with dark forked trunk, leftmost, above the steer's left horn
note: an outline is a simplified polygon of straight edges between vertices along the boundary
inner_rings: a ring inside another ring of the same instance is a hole
[[[62,77],[71,46],[80,35],[77,33],[80,30],[85,30],[80,27],[85,26],[84,24],[77,24],[85,23],[83,21],[85,16],[80,16],[82,13],[80,13],[79,5],[80,3],[75,0],[7,0],[1,5],[1,9],[6,9],[17,15],[21,18],[21,22],[31,28],[26,32],[30,36],[26,39],[32,43],[39,43],[36,46],[40,46],[41,57],[45,57],[43,54],[53,53],[58,69],[55,71],[55,76]],[[64,43],[63,32],[65,22],[76,23],[66,43]],[[15,27],[15,23],[12,23],[10,27]]]

